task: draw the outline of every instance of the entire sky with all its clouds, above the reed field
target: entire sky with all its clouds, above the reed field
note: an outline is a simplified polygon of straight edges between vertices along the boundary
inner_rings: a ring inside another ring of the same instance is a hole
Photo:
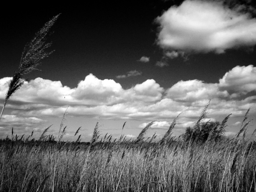
[[[33,7],[34,6],[34,7]],[[49,51],[39,70],[7,102],[0,138],[57,136],[65,110],[64,140],[88,142],[98,119],[102,137],[163,137],[181,113],[173,135],[193,126],[210,99],[203,122],[232,115],[225,135],[238,133],[246,111],[256,119],[256,3],[251,0],[119,1],[20,5],[0,13],[0,103],[22,50],[55,15]],[[29,8],[28,8],[29,7]],[[255,121],[248,127],[248,137]]]

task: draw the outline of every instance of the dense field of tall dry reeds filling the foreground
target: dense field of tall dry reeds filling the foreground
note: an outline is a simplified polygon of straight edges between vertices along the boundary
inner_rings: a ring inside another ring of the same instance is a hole
[[[256,191],[255,142],[108,140],[90,151],[82,181],[88,143],[1,140],[0,191],[52,191],[55,165],[54,191]]]

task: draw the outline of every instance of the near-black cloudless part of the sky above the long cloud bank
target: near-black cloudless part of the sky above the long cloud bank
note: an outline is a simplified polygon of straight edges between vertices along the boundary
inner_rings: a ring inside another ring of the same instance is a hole
[[[173,1],[95,1],[75,6],[23,5],[14,14],[1,12],[0,78],[13,75],[25,44],[59,13],[49,38],[53,43],[49,50],[55,52],[42,60],[41,71],[26,78],[60,80],[73,88],[92,73],[99,79],[114,79],[124,88],[147,79],[166,88],[179,80],[218,82],[234,66],[254,64],[255,51],[239,49],[227,50],[225,54],[193,54],[188,60],[168,60],[167,67],[155,66],[161,60],[162,50],[155,43],[158,25],[154,19],[172,5]],[[150,62],[138,62],[142,56],[150,57]],[[129,81],[116,78],[131,70],[141,71],[142,75]]]

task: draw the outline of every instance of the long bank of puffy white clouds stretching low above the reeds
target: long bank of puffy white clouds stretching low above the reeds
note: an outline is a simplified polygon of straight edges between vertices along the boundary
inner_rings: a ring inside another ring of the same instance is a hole
[[[11,78],[0,79],[0,102]],[[11,97],[0,128],[5,126],[25,129],[40,126],[42,117],[61,117],[69,106],[69,115],[104,119],[143,120],[158,119],[153,128],[168,128],[170,121],[182,112],[178,125],[192,126],[210,98],[209,116],[218,119],[232,113],[243,118],[251,107],[256,111],[256,67],[236,66],[218,83],[201,80],[178,81],[168,89],[148,79],[130,89],[111,79],[100,80],[93,74],[86,76],[74,89],[60,81],[36,78],[25,84]],[[234,126],[239,126],[238,123]],[[31,130],[31,129],[30,129]]]

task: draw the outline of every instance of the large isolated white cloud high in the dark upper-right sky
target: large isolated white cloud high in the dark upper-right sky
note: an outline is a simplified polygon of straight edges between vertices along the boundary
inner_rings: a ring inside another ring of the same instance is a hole
[[[256,44],[256,19],[242,6],[229,8],[222,1],[205,0],[171,6],[155,20],[160,25],[157,43],[163,49],[187,53],[252,47]]]

